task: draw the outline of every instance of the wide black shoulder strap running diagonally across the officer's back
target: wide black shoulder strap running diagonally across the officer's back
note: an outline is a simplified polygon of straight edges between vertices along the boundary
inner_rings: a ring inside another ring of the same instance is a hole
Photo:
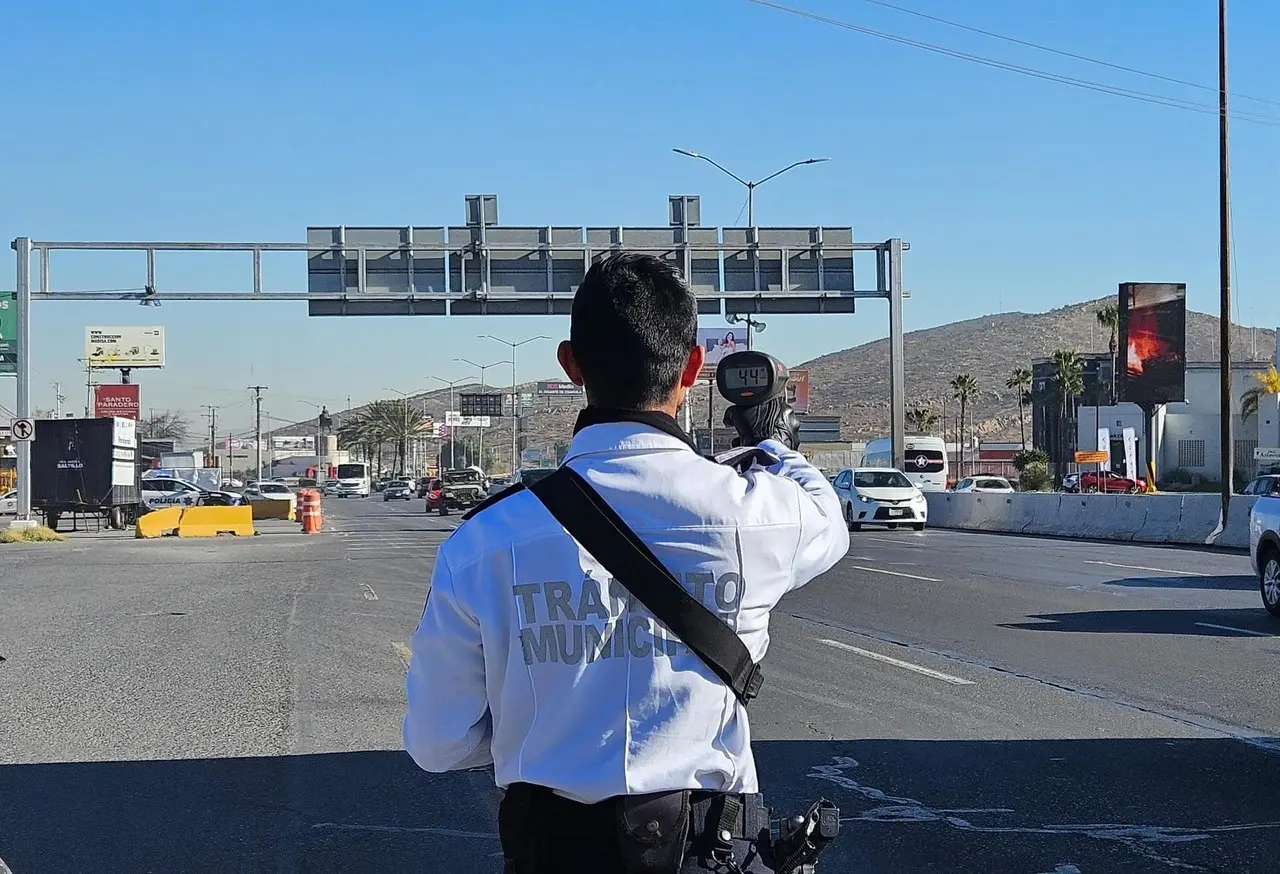
[[[764,676],[742,639],[699,604],[604,499],[567,465],[529,490],[595,560],[627,587],[748,704]]]

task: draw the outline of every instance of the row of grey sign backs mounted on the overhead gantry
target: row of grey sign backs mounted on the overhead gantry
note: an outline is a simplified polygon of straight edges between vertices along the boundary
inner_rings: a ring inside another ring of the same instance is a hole
[[[718,315],[852,312],[851,228],[307,228],[312,316],[568,315],[613,252],[671,261]],[[884,297],[861,293],[863,297]],[[736,298],[736,301],[735,301]]]

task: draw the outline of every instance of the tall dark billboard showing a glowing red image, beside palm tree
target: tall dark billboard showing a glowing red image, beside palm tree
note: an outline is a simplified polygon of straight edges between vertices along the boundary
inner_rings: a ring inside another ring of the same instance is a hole
[[[1139,407],[1187,401],[1187,284],[1120,284],[1120,397]]]

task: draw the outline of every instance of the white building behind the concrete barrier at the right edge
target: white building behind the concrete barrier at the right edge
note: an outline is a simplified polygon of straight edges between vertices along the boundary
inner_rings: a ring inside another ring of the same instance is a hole
[[[1271,362],[1244,361],[1231,366],[1231,434],[1235,443],[1235,468],[1252,477],[1258,468],[1253,459],[1257,447],[1280,447],[1280,409],[1276,395],[1263,397],[1258,413],[1240,418],[1240,397],[1257,386],[1254,374],[1266,371]],[[1187,402],[1170,403],[1156,412],[1156,473],[1164,479],[1174,470],[1220,481],[1221,462],[1219,435],[1219,366],[1217,362],[1187,365]],[[1138,467],[1147,470],[1146,417],[1135,404],[1087,407],[1079,411],[1076,445],[1097,448],[1097,429],[1105,427],[1112,440],[1123,429],[1138,435]]]

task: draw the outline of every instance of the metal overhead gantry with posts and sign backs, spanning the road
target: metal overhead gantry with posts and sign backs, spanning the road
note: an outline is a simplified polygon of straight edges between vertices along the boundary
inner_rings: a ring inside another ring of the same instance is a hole
[[[355,233],[353,233],[355,232]],[[424,233],[425,232],[425,233]],[[398,237],[394,244],[388,238]],[[360,242],[361,235],[372,239]],[[356,239],[352,239],[355,237]],[[17,260],[17,413],[31,416],[32,301],[300,301],[315,316],[567,315],[591,262],[617,251],[641,251],[677,264],[703,315],[850,314],[858,299],[888,301],[890,433],[902,463],[905,366],[901,239],[852,241],[847,228],[312,228],[308,242],[84,242],[13,241]],[[55,251],[133,251],[146,256],[141,288],[56,290]],[[157,252],[243,252],[247,288],[166,290],[156,276]],[[305,290],[269,290],[264,252],[307,252]],[[856,288],[854,255],[876,257],[876,285]],[[32,285],[32,258],[38,284]],[[38,439],[38,430],[36,439]],[[18,523],[31,517],[31,444],[19,443]]]

